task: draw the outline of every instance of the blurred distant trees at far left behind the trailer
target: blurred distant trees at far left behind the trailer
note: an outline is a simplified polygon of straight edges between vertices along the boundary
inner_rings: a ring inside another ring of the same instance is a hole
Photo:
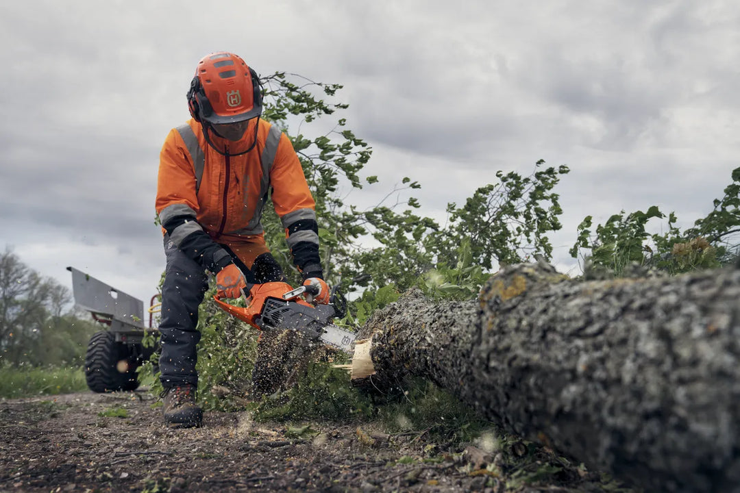
[[[10,248],[0,254],[0,364],[79,364],[95,327],[69,311],[70,293]]]

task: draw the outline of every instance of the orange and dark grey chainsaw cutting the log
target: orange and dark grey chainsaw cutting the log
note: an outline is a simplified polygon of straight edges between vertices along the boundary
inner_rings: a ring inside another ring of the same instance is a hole
[[[317,285],[303,285],[293,289],[286,282],[247,283],[242,294],[246,307],[237,307],[214,296],[216,303],[226,313],[259,330],[296,330],[305,333],[313,341],[321,340],[329,346],[346,353],[354,349],[356,335],[349,330],[334,325],[335,318],[343,318],[347,313],[347,300],[332,288],[328,305],[312,305],[301,295],[316,296]]]

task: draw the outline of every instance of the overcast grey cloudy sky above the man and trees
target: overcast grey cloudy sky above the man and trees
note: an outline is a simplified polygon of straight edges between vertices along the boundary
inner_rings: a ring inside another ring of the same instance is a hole
[[[440,222],[496,172],[565,164],[560,271],[586,215],[659,205],[691,225],[740,166],[740,3],[40,1],[0,5],[0,248],[71,288],[72,265],[144,300],[164,270],[158,155],[195,64],[342,84],[382,186]],[[662,225],[655,225],[656,228]]]

